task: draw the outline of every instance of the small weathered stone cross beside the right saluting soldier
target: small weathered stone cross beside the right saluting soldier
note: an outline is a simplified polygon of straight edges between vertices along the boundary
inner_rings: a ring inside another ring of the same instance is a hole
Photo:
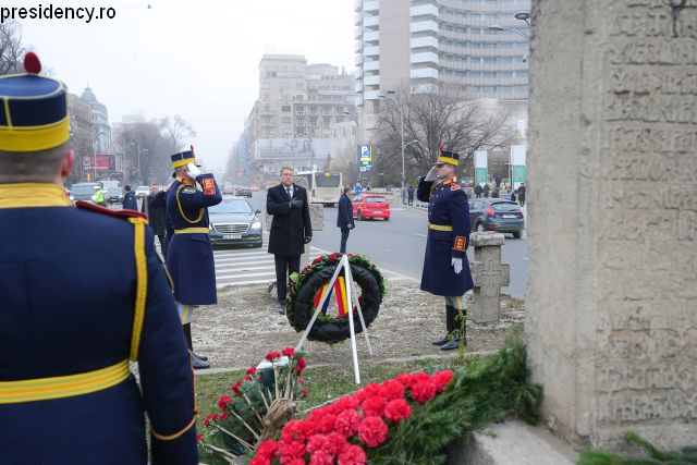
[[[475,282],[474,308],[469,317],[478,323],[499,321],[501,316],[501,286],[509,285],[510,265],[501,262],[503,234],[472,233],[469,245],[475,247],[475,259],[469,264]]]

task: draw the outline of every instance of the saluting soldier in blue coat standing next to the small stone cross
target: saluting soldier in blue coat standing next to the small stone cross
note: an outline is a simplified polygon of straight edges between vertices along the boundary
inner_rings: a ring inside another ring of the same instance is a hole
[[[421,290],[445,297],[443,339],[433,341],[443,351],[457,348],[461,329],[457,314],[465,318],[465,292],[474,287],[467,264],[469,204],[467,194],[453,181],[460,155],[441,151],[438,161],[418,183],[417,197],[428,201],[428,238],[421,274]]]

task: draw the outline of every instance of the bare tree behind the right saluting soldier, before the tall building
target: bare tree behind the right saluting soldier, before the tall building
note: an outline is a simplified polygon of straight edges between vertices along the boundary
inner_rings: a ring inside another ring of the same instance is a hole
[[[383,101],[377,117],[378,146],[386,172],[401,172],[401,111],[404,111],[405,169],[409,172],[427,171],[436,161],[441,143],[461,155],[461,163],[467,163],[476,150],[510,143],[506,112],[485,109],[477,100],[461,98],[455,89],[418,94],[399,90],[393,97]]]

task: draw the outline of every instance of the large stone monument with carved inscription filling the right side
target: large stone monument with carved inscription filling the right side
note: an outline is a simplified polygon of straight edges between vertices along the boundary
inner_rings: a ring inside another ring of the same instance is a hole
[[[697,1],[533,5],[525,329],[543,415],[579,446],[695,444]]]

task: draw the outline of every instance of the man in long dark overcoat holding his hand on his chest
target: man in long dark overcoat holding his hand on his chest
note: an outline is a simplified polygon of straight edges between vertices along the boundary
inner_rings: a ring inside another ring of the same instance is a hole
[[[269,254],[276,261],[276,286],[280,313],[285,313],[288,277],[301,270],[301,255],[313,240],[307,191],[293,183],[294,170],[281,169],[281,184],[268,189],[266,211],[273,216],[269,233]]]

